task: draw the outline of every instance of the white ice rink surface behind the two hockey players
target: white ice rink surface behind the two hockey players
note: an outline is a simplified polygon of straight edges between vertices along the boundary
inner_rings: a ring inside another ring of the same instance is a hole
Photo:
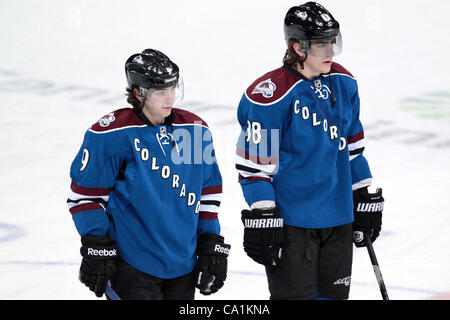
[[[0,299],[96,299],[78,279],[66,207],[85,130],[127,106],[123,65],[144,48],[181,68],[185,107],[211,127],[224,179],[219,215],[232,245],[224,288],[198,299],[268,299],[242,249],[234,170],[236,108],[281,65],[294,1],[0,1]],[[375,250],[391,299],[450,291],[450,2],[322,1],[340,21],[336,61],[358,79],[373,187],[384,190]],[[380,299],[355,249],[350,299]]]

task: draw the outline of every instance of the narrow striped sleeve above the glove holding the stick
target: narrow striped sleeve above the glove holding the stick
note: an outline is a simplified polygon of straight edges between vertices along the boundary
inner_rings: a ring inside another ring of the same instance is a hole
[[[357,88],[352,96],[352,107],[352,123],[347,134],[347,143],[350,156],[352,189],[356,190],[367,187],[372,182],[369,164],[363,155],[365,149],[364,129],[359,119],[360,101]]]

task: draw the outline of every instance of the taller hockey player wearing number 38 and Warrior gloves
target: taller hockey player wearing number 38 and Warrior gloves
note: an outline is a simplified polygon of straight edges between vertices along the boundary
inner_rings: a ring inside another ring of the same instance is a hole
[[[289,9],[284,34],[283,67],[238,108],[244,250],[266,267],[271,299],[347,299],[353,243],[375,241],[384,203],[368,191],[358,86],[333,62],[341,33],[323,6]]]

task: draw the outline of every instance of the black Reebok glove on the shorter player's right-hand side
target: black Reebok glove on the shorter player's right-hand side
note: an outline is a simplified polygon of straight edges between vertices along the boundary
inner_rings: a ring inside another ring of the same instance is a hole
[[[231,246],[223,241],[222,236],[214,233],[204,233],[197,239],[195,286],[201,294],[217,292],[227,278],[227,258]]]

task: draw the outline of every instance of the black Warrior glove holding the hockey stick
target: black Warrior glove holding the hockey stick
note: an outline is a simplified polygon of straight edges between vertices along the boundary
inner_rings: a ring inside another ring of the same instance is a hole
[[[381,231],[381,215],[384,207],[382,189],[369,193],[366,188],[353,191],[353,242],[356,247],[365,247],[365,237],[374,242]]]

